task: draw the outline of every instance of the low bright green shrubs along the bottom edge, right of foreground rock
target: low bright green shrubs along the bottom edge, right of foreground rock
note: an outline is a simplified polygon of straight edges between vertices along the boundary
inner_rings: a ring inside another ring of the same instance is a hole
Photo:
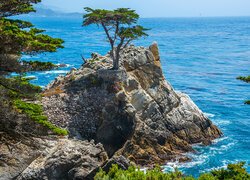
[[[185,176],[175,169],[174,172],[163,173],[160,167],[147,170],[146,173],[139,168],[129,167],[122,170],[118,165],[112,165],[109,172],[102,169],[96,174],[95,180],[194,180],[192,176]],[[248,180],[250,174],[244,168],[244,163],[230,164],[227,169],[213,170],[210,173],[202,174],[198,180]]]

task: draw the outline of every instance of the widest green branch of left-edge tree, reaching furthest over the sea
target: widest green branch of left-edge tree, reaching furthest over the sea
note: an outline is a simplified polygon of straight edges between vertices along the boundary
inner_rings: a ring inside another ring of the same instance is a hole
[[[28,29],[27,29],[28,28]],[[0,18],[1,54],[36,54],[55,52],[62,48],[63,40],[41,34],[43,30],[32,28],[32,24],[21,20]]]

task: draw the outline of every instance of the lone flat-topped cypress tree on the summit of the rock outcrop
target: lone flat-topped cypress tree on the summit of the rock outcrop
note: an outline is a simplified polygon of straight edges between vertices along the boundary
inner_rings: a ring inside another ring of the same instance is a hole
[[[139,15],[129,8],[116,10],[84,8],[87,14],[83,16],[83,26],[101,25],[111,46],[110,55],[113,59],[113,69],[119,69],[120,51],[131,41],[147,36],[143,26],[137,25]]]

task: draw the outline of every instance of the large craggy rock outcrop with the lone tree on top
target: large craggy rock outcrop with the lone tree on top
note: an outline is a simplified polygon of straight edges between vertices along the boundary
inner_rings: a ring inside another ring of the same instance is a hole
[[[50,121],[72,137],[101,142],[109,156],[136,164],[164,163],[222,135],[185,94],[165,80],[158,47],[131,46],[120,70],[95,55],[78,70],[57,78],[44,92]]]

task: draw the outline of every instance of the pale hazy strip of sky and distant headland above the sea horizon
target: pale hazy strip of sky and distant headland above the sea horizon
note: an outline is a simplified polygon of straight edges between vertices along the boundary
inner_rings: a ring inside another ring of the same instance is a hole
[[[83,12],[83,7],[129,7],[142,17],[250,16],[250,0],[43,0],[43,5],[63,12]]]

